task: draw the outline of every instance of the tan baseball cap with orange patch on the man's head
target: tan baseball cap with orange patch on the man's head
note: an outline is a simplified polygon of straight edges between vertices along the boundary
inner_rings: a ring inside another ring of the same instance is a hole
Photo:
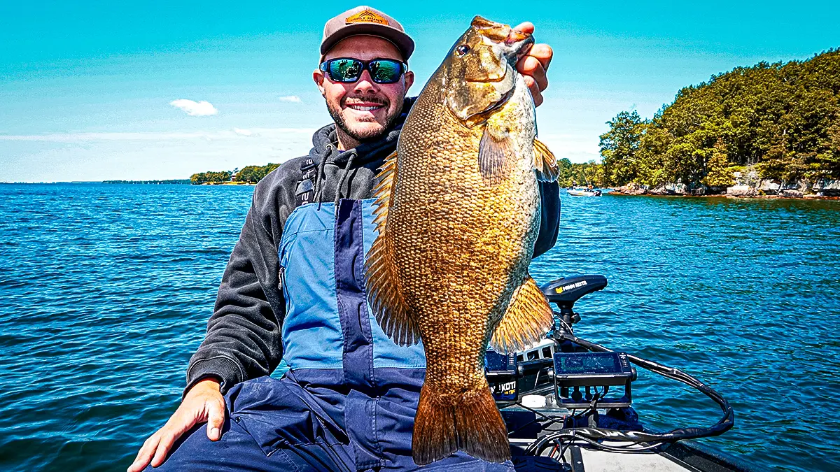
[[[324,25],[321,55],[327,54],[340,40],[355,34],[370,34],[391,41],[405,60],[414,52],[414,40],[402,29],[402,24],[375,8],[362,5],[330,18]]]

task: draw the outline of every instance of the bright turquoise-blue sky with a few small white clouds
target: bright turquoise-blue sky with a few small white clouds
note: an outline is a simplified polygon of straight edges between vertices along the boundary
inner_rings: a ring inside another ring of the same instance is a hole
[[[840,47],[840,2],[372,2],[417,49],[420,92],[476,14],[531,21],[554,49],[539,136],[599,159],[624,110]],[[0,181],[186,179],[304,155],[330,123],[312,82],[348,2],[0,0]]]

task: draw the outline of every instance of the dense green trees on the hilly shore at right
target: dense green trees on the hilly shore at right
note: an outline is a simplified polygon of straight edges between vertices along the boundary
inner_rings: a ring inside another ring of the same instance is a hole
[[[607,122],[593,183],[720,189],[745,169],[781,182],[840,179],[838,93],[840,50],[711,76],[654,118],[625,111]]]

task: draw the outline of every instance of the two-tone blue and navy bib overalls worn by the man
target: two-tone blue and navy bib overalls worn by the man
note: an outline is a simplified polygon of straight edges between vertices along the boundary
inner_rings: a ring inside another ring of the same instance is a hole
[[[277,251],[289,370],[234,385],[222,439],[211,443],[202,425],[164,469],[417,469],[412,430],[426,359],[422,344],[394,344],[371,315],[364,264],[375,237],[372,199],[291,212]],[[423,470],[513,468],[459,452]]]

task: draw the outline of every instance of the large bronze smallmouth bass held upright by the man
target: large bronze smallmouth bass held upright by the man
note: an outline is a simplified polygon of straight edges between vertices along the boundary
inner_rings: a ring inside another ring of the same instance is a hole
[[[536,139],[533,98],[515,68],[532,44],[530,34],[475,17],[417,97],[378,176],[367,291],[396,343],[423,339],[412,436],[419,465],[457,450],[510,459],[486,347],[522,349],[553,323],[528,275],[537,181],[558,172]]]

